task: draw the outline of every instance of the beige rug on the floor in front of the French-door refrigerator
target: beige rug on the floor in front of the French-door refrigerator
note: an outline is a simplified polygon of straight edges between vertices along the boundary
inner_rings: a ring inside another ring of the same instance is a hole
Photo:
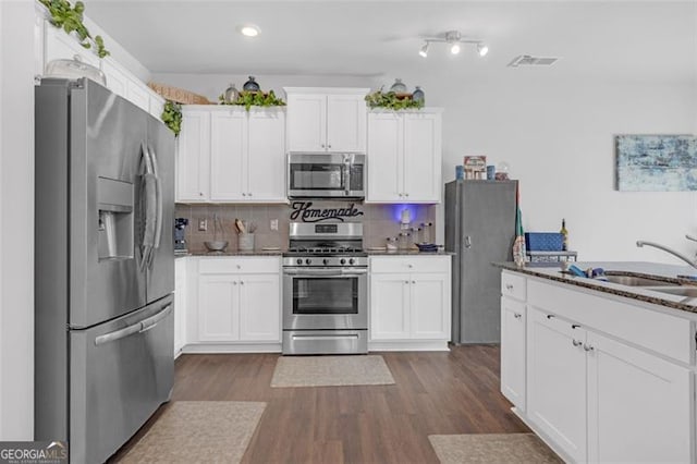
[[[266,403],[175,401],[122,463],[239,463]]]

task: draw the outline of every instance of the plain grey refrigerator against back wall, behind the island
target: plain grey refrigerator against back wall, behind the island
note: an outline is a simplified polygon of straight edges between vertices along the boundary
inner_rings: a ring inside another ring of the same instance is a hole
[[[517,181],[445,184],[445,251],[452,260],[452,342],[501,341],[501,270],[515,239]]]

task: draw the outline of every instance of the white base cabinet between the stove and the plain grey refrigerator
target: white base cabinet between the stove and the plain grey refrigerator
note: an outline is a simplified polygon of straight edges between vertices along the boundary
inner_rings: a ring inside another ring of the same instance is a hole
[[[370,257],[371,350],[447,350],[450,256]]]

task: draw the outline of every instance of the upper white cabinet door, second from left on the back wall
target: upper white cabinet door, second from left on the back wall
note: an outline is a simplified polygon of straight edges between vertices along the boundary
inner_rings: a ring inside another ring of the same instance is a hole
[[[247,115],[244,110],[210,114],[210,199],[247,198],[244,157],[247,154]]]

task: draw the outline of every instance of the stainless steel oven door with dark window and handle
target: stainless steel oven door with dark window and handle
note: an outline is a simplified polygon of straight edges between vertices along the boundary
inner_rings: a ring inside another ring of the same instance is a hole
[[[283,330],[368,328],[367,269],[283,270]]]

